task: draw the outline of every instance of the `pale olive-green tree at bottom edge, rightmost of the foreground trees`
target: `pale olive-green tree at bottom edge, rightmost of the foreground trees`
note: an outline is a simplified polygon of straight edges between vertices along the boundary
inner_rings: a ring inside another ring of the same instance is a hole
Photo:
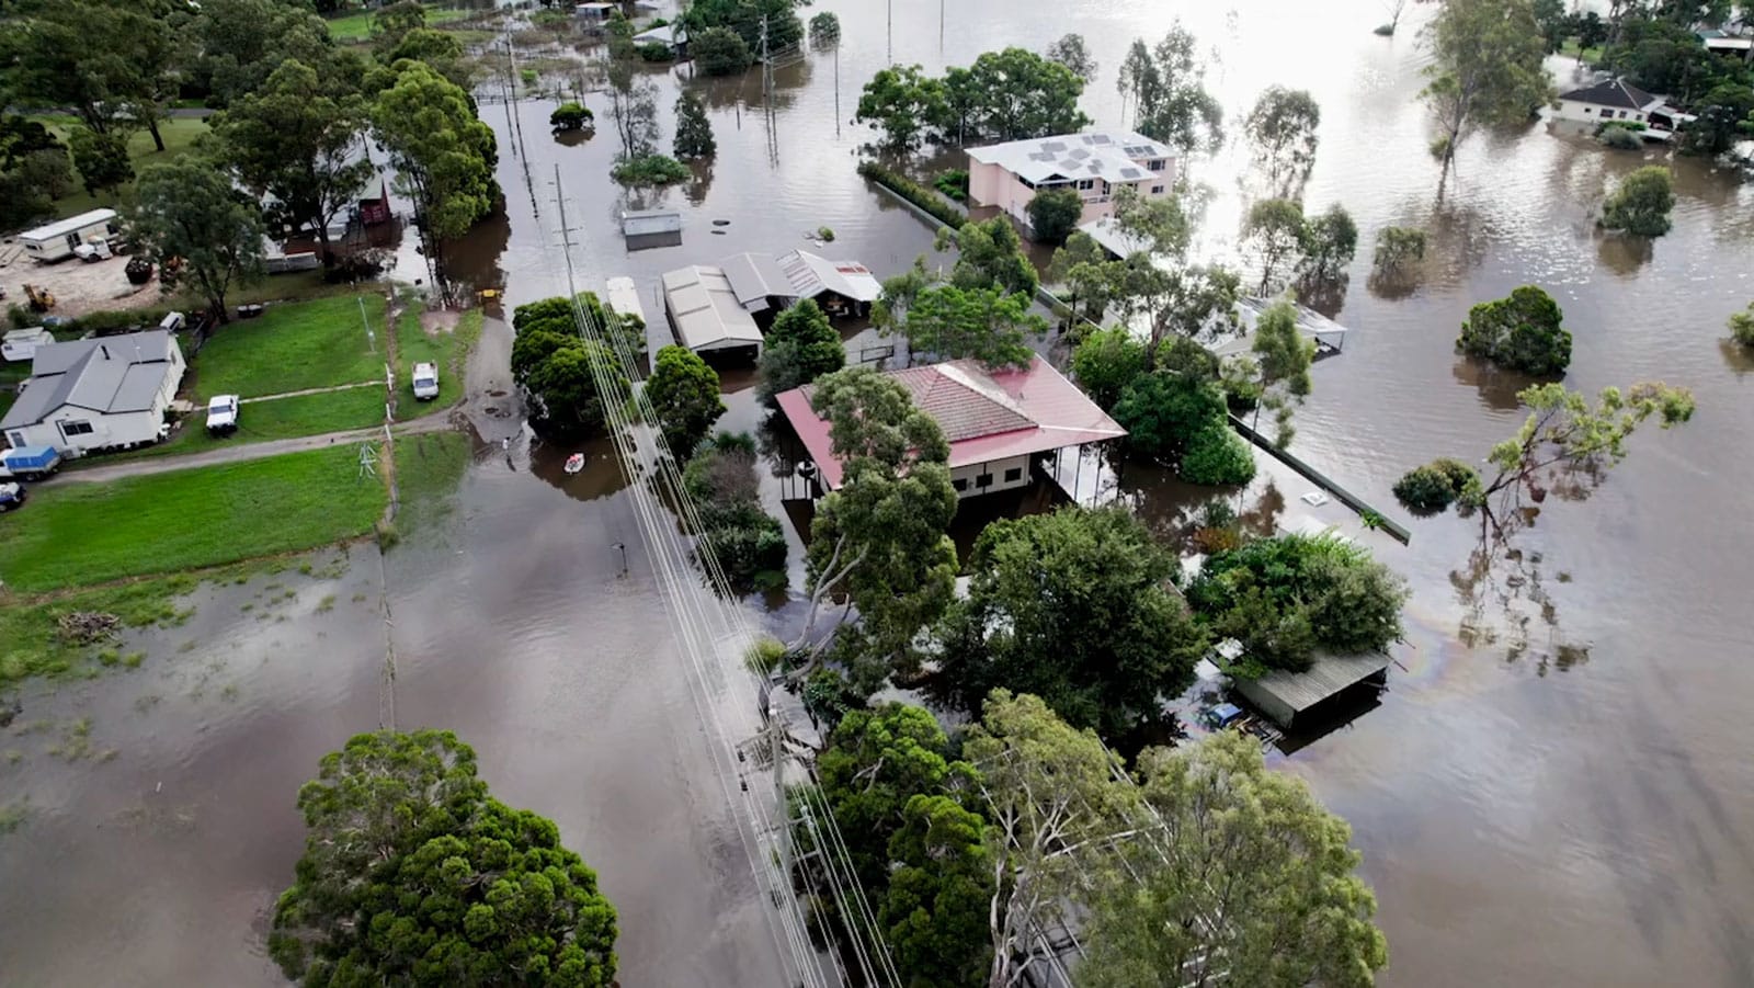
[[[1140,755],[1152,823],[1105,867],[1079,984],[1368,986],[1387,963],[1351,828],[1238,730]]]

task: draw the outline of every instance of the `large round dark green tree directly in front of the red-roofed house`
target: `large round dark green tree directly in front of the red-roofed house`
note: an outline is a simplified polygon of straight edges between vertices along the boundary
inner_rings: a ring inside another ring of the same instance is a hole
[[[1158,716],[1207,648],[1172,581],[1173,553],[1121,507],[995,521],[942,623],[942,686],[963,709],[995,688],[1042,697],[1066,723],[1116,735]]]

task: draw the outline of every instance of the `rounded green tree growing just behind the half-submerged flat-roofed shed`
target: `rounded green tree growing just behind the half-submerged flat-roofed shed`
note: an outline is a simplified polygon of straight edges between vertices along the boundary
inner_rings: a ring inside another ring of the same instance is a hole
[[[1401,635],[1405,583],[1331,535],[1259,539],[1207,560],[1187,602],[1214,635],[1268,669],[1308,669],[1316,649],[1358,655]]]

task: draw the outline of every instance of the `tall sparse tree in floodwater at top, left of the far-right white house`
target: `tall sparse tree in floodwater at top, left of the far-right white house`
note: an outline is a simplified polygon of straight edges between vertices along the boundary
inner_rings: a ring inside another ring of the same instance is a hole
[[[1438,125],[1431,154],[1444,165],[1442,191],[1461,142],[1480,126],[1528,121],[1552,98],[1552,79],[1531,0],[1445,0],[1421,39],[1431,65],[1419,95]]]

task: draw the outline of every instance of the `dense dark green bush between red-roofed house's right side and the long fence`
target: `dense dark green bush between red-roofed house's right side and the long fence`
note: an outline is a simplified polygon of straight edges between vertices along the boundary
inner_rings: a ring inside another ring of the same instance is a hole
[[[1114,405],[1128,449],[1173,463],[1193,484],[1245,484],[1254,456],[1230,433],[1224,391],[1210,377],[1156,370],[1133,381]]]

